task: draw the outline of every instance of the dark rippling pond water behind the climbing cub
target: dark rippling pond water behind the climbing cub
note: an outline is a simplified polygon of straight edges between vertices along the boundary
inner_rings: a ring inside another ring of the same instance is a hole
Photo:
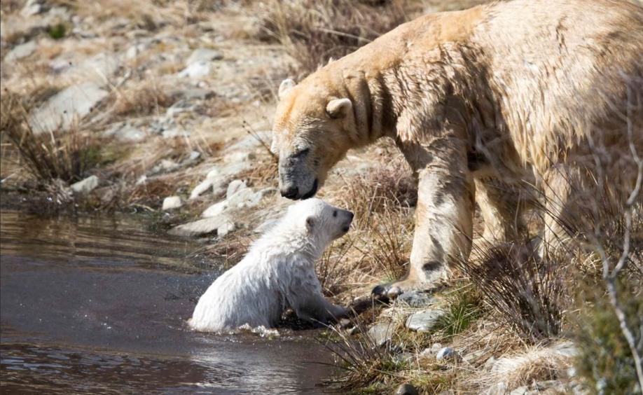
[[[314,331],[190,331],[218,271],[125,218],[1,212],[2,394],[320,394]]]

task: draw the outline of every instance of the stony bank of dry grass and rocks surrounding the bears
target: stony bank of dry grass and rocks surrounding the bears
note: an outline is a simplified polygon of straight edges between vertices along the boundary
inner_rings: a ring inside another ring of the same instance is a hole
[[[474,3],[414,3],[408,18]],[[265,7],[3,2],[1,89],[20,103],[14,126],[24,133],[11,139],[3,121],[3,203],[146,212],[171,237],[202,241],[197,254],[233,265],[289,204],[276,193],[270,122],[279,82],[306,72],[291,48],[265,39]],[[3,118],[15,114],[5,110]],[[89,165],[67,179],[37,176],[19,149],[32,139],[48,149],[36,155],[67,153],[70,135]],[[564,335],[572,319],[549,338],[528,338],[462,273],[437,291],[371,301],[374,285],[406,270],[414,188],[382,141],[350,153],[321,192],[356,212],[354,229],[319,262],[324,289],[337,303],[370,306],[328,331],[346,358],[336,384],[364,393],[589,393],[574,368],[579,349]]]

